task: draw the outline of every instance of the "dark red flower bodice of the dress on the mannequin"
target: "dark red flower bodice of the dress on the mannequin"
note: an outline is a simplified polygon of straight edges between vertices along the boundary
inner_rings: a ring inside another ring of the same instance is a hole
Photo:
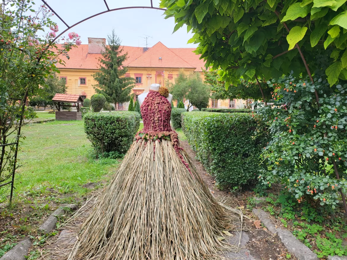
[[[171,104],[158,91],[150,90],[141,104],[143,132],[171,131]]]

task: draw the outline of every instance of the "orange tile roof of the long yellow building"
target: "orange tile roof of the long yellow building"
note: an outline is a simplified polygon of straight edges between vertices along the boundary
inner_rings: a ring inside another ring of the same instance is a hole
[[[128,58],[123,64],[126,67],[195,68],[195,71],[202,71],[201,68],[205,67],[205,62],[193,52],[194,48],[168,48],[161,42],[148,48],[147,51],[143,47],[122,47],[123,52],[128,53]],[[57,64],[58,68],[99,69],[98,61],[101,54],[88,53],[88,44],[81,44],[71,49],[68,56],[70,59],[66,56],[61,57],[65,61],[65,66]]]

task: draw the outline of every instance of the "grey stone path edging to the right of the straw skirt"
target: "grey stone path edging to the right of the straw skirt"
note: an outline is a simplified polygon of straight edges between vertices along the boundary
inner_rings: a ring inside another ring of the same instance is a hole
[[[299,260],[319,260],[317,255],[313,253],[306,245],[301,243],[291,232],[279,228],[271,222],[271,218],[267,212],[262,209],[253,209],[253,214],[256,215],[264,226],[273,234],[278,234],[282,243],[287,250],[295,255]]]

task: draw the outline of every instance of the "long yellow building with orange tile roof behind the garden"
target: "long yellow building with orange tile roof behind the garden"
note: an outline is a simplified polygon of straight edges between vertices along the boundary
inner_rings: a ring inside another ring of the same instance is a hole
[[[88,44],[82,44],[69,51],[69,59],[65,60],[65,66],[59,65],[60,78],[65,78],[67,93],[79,94],[82,98],[90,98],[95,94],[93,85],[97,82],[93,74],[99,71],[99,59],[104,50],[103,38],[88,38]],[[121,46],[122,53],[128,53],[123,66],[128,68],[127,77],[135,79],[133,93],[137,96],[148,92],[151,84],[157,83],[165,86],[167,82],[174,83],[179,71],[186,74],[199,73],[204,78],[202,69],[205,64],[193,51],[194,48],[168,48],[158,42],[151,48]],[[116,110],[127,110],[128,102],[116,104]],[[209,107],[218,108],[244,108],[242,100],[212,100]]]

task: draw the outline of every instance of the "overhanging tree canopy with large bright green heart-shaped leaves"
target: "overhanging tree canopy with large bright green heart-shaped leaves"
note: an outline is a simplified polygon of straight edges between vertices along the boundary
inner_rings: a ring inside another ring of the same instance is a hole
[[[223,69],[225,87],[244,79],[311,75],[325,54],[330,85],[347,77],[345,0],[162,0],[174,31],[186,24],[206,67]],[[319,68],[320,69],[320,68]]]

